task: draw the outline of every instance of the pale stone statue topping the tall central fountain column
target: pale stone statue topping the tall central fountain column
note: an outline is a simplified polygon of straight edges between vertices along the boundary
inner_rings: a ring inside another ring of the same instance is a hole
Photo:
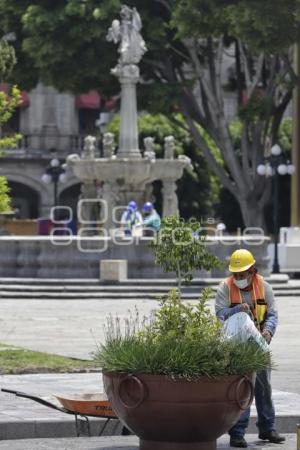
[[[106,39],[119,45],[119,64],[138,64],[147,51],[144,39],[140,33],[142,21],[136,8],[123,5],[121,8],[121,23],[113,20]]]

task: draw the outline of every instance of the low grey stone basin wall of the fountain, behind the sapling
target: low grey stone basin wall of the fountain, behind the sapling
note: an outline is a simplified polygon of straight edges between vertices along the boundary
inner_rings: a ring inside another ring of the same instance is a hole
[[[55,241],[54,241],[55,238]],[[28,278],[99,278],[101,260],[126,260],[129,278],[174,278],[154,263],[149,238],[124,238],[115,242],[111,237],[79,236],[0,236],[0,277]],[[257,268],[268,276],[269,256],[265,236],[214,236],[208,238],[210,251],[228,262],[237,248],[247,248],[257,262]],[[226,264],[227,267],[228,264]],[[196,277],[223,277],[224,269],[196,272]]]

